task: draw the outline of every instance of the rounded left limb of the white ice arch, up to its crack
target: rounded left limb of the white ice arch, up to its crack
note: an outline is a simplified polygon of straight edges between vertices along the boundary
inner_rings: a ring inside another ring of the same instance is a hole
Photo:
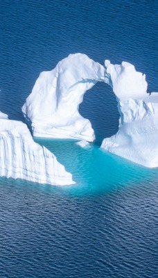
[[[91,123],[78,108],[85,92],[106,80],[105,67],[85,54],[71,54],[42,72],[22,107],[33,136],[93,141]]]

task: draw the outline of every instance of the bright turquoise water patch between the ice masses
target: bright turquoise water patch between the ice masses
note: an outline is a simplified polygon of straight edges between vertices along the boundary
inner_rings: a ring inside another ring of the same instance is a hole
[[[77,141],[71,140],[38,139],[36,142],[51,150],[73,174],[76,185],[64,186],[62,190],[66,194],[104,194],[138,181],[140,184],[155,181],[158,177],[157,169],[151,170],[104,152],[95,143],[82,148],[76,145]]]

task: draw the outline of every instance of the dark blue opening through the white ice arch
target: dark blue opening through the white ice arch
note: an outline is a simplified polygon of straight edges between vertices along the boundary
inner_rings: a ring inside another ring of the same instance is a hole
[[[104,82],[96,83],[85,92],[79,113],[91,122],[96,145],[100,146],[104,138],[118,131],[120,115],[116,97],[112,88]]]

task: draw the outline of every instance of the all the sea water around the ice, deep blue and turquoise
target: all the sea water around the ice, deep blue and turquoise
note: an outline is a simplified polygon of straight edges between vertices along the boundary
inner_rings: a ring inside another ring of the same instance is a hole
[[[158,92],[158,2],[0,0],[0,111],[22,120],[37,76],[70,53],[123,60]],[[76,185],[0,179],[0,277],[158,277],[158,172],[100,151],[118,130],[112,89],[80,105],[96,141],[41,140]]]

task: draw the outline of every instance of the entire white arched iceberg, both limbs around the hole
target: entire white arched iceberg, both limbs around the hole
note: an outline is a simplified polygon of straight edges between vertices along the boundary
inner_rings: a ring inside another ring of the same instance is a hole
[[[120,113],[119,131],[102,149],[146,167],[158,167],[158,94],[147,94],[145,74],[123,62],[105,67],[85,54],[71,54],[54,70],[42,72],[22,111],[34,136],[95,139],[89,120],[78,112],[83,95],[98,81],[110,85]]]

